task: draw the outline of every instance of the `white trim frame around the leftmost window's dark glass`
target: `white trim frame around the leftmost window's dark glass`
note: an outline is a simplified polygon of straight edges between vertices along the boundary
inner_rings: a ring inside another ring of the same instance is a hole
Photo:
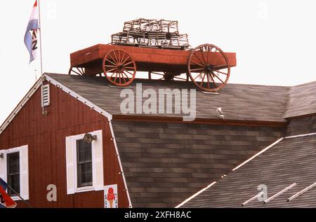
[[[0,151],[0,153],[4,153],[4,180],[8,181],[8,163],[7,163],[7,155],[10,153],[19,153],[19,165],[20,165],[20,195],[21,195],[21,191],[22,191],[22,187],[23,187],[23,180],[22,180],[22,158],[21,158],[21,151],[22,148],[27,148],[28,146],[19,146],[19,147],[15,147],[15,148],[9,148],[6,150],[2,150]],[[28,160],[27,160],[28,161]],[[28,165],[28,163],[27,163]],[[28,167],[27,167],[28,170]],[[27,172],[27,175],[29,174],[29,172]],[[20,197],[18,196],[12,196],[11,197],[12,200],[17,201],[17,200],[22,200]],[[23,198],[23,200],[29,200],[29,198]]]

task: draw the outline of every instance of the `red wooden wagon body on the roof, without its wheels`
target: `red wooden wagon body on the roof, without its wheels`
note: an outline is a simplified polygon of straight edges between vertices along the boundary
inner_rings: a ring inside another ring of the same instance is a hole
[[[85,74],[96,76],[103,73],[102,62],[112,50],[124,50],[136,62],[137,71],[165,71],[173,74],[187,73],[187,62],[192,50],[169,50],[159,48],[140,48],[133,46],[117,46],[98,44],[70,55],[72,67],[85,68]],[[236,66],[236,53],[225,53],[230,67]],[[225,67],[225,59],[220,53],[211,53],[216,61],[214,66]],[[218,59],[218,60],[217,60]]]

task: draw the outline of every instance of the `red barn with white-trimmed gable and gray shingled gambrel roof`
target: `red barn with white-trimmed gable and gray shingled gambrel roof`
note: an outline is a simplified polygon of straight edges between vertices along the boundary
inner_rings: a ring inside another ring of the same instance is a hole
[[[177,113],[121,113],[122,88],[104,77],[44,78],[43,90],[38,81],[0,127],[0,177],[33,207],[176,207],[283,137],[291,118],[288,87],[197,91],[196,118],[183,122]],[[195,88],[136,79],[129,89],[138,83],[157,92]]]

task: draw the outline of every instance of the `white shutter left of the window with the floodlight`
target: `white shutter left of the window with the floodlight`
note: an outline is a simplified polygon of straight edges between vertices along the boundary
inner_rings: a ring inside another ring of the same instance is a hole
[[[72,137],[66,137],[67,194],[73,194],[75,190],[73,142]]]

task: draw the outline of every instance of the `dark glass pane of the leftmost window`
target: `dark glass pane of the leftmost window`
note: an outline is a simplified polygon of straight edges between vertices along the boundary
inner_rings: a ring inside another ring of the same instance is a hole
[[[6,162],[8,186],[11,186],[16,193],[20,193],[20,152],[8,153]],[[16,195],[13,190],[8,189],[8,195]]]

